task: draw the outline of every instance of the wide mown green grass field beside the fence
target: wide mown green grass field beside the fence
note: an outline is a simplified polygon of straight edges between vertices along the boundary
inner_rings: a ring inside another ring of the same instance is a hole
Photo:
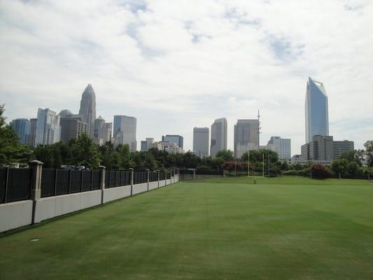
[[[0,279],[373,279],[373,183],[181,182],[0,237],[0,254]]]

